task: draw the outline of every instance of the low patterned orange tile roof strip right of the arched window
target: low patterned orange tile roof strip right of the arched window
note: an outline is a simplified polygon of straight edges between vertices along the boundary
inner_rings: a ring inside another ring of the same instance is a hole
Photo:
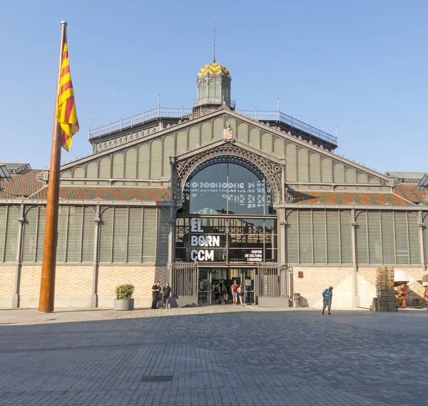
[[[393,193],[289,191],[297,204],[361,204],[362,206],[413,206]]]

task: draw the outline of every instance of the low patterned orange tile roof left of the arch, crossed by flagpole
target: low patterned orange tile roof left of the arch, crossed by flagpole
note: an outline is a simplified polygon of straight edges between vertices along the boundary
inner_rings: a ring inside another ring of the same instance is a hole
[[[29,199],[46,199],[48,188],[31,195]],[[163,202],[169,199],[169,189],[166,187],[97,187],[97,186],[61,186],[59,199],[61,200],[116,200],[143,202]]]

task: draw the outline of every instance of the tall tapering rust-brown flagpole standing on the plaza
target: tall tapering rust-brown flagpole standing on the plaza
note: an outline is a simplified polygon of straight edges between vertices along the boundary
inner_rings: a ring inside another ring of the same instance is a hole
[[[59,169],[61,164],[61,127],[56,119],[58,89],[61,75],[63,46],[66,39],[66,21],[61,21],[61,44],[59,47],[58,78],[52,132],[51,165],[49,168],[48,201],[44,233],[43,259],[41,263],[41,284],[39,312],[53,312],[55,298],[56,244],[58,242]]]

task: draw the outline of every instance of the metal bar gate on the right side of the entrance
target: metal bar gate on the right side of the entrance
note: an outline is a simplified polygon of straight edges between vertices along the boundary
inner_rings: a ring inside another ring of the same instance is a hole
[[[258,305],[288,307],[292,299],[292,268],[285,264],[258,265]]]

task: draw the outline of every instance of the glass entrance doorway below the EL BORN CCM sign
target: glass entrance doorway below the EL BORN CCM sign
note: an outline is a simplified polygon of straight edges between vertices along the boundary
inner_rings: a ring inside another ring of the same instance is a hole
[[[217,286],[220,280],[226,285],[228,297],[226,304],[232,304],[231,287],[233,281],[243,284],[244,304],[255,304],[256,291],[255,268],[199,268],[198,273],[198,306],[220,304]],[[239,299],[238,299],[239,303]]]

